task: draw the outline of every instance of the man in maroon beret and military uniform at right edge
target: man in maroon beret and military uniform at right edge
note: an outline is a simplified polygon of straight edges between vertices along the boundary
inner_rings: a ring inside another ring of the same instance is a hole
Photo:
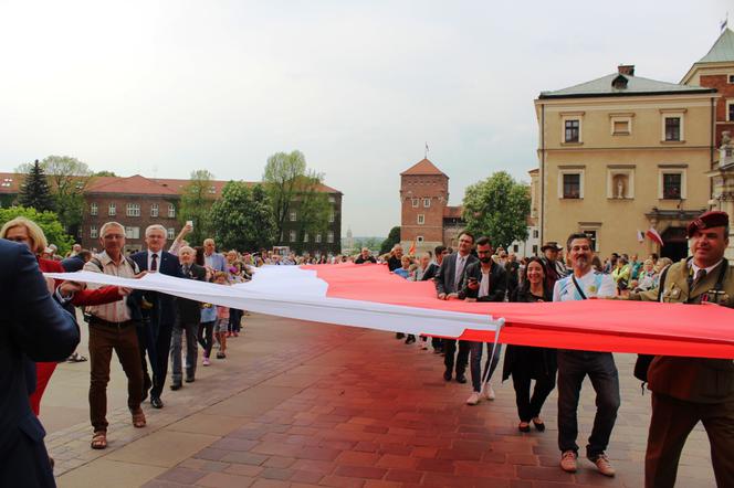
[[[728,215],[706,212],[688,225],[692,256],[668,268],[658,289],[630,299],[734,308],[734,270],[724,258]],[[664,280],[663,280],[664,279]],[[695,326],[695,325],[693,325]],[[648,370],[652,418],[644,463],[647,487],[672,487],[685,439],[703,422],[716,485],[734,486],[734,363],[731,359],[658,356]]]

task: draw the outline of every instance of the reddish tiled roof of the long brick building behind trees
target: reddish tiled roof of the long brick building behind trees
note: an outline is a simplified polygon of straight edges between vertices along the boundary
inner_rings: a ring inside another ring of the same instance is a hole
[[[0,172],[0,193],[19,193],[23,174]],[[124,194],[154,194],[154,195],[178,195],[184,191],[190,180],[178,180],[170,178],[145,178],[140,174],[133,177],[94,177],[86,189],[87,193],[124,193]],[[221,195],[222,189],[228,181],[214,180],[211,182],[212,194]],[[245,181],[249,185],[258,182]],[[339,193],[326,184],[321,184],[321,191],[326,193]]]

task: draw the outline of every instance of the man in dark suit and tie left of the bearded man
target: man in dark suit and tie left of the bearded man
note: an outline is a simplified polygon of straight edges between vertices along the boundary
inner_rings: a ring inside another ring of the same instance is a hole
[[[436,291],[438,293],[440,300],[448,300],[450,298],[459,297],[459,286],[464,276],[466,266],[478,261],[476,256],[471,254],[473,245],[474,236],[469,232],[463,232],[461,235],[459,235],[459,250],[450,256],[445,256],[443,258],[441,267],[436,275]],[[451,381],[451,375],[453,374],[454,368],[454,354],[457,352],[457,340],[444,339],[443,352],[445,352],[443,360],[443,364],[445,365],[443,379],[445,381]],[[469,342],[462,340],[459,341],[459,354],[455,358],[457,381],[459,383],[466,382],[464,372],[466,371],[468,362]]]

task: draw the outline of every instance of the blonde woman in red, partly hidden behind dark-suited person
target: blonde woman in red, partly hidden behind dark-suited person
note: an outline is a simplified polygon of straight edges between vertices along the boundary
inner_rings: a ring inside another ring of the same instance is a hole
[[[43,230],[30,219],[24,216],[17,216],[15,219],[6,222],[0,229],[0,238],[14,241],[25,244],[29,250],[35,255],[39,261],[39,267],[43,273],[65,273],[61,262],[45,259],[42,254],[49,246]],[[87,305],[102,305],[117,301],[127,294],[127,290],[120,289],[116,286],[106,286],[95,290],[84,289],[84,285],[75,282],[61,282],[48,279],[49,291],[51,295],[75,316],[75,310],[72,306],[87,306]],[[29,391],[31,409],[35,415],[39,415],[41,409],[41,397],[45,391],[49,380],[56,369],[55,362],[39,362],[36,363],[35,374],[35,389]]]

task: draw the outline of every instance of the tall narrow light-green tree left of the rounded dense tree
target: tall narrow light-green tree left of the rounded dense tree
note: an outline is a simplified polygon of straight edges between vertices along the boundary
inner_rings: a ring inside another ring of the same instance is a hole
[[[214,176],[206,169],[191,172],[191,180],[181,192],[180,211],[178,220],[193,222],[193,231],[187,240],[201,245],[205,238],[211,237],[211,205],[214,194],[211,192]]]

